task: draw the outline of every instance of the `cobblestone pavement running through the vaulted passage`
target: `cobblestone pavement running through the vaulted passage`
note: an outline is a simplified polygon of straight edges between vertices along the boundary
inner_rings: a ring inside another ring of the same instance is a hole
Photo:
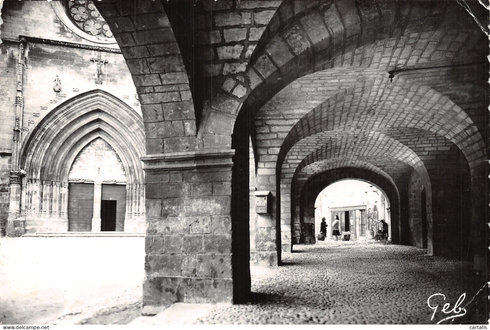
[[[255,303],[217,308],[196,323],[435,324],[455,315],[441,312],[443,303],[452,309],[466,293],[459,307],[466,306],[480,284],[470,280],[471,264],[426,253],[372,241],[294,245],[284,266],[252,270]],[[431,321],[427,299],[435,293],[446,301],[431,300],[440,304]]]

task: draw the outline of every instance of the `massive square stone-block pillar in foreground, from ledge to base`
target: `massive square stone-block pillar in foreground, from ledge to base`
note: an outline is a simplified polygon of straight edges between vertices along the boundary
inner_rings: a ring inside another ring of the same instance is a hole
[[[248,201],[232,202],[232,155],[229,149],[212,149],[142,157],[147,196],[144,314],[157,312],[168,301],[237,302],[237,295],[249,294],[248,211],[242,210],[248,209]],[[248,189],[244,194],[247,199]],[[236,213],[246,219],[232,223]]]

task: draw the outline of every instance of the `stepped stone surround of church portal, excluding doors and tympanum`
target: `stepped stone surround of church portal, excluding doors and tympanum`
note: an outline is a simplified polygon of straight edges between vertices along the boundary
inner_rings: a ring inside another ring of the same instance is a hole
[[[21,216],[30,232],[68,230],[68,175],[78,153],[102,138],[114,148],[126,172],[126,231],[145,227],[143,120],[122,100],[101,90],[58,105],[36,123],[21,150]]]

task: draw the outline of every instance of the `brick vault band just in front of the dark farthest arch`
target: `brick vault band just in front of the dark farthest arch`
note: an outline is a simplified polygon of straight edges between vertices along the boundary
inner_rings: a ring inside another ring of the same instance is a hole
[[[310,180],[319,172],[335,166],[357,165],[386,176],[395,187],[403,187],[403,176],[417,172],[426,186],[430,187],[429,175],[420,157],[410,147],[388,135],[380,132],[358,132],[354,136],[352,132],[334,131],[314,136],[317,136],[318,141],[303,139],[290,149],[280,174],[281,228],[291,226],[293,244],[297,243],[294,237],[299,235],[298,208],[302,205],[300,193],[305,186],[305,180]],[[399,218],[398,214],[395,219],[398,221]],[[396,224],[397,235],[392,237],[394,242],[399,243],[399,221]],[[281,233],[282,237],[289,237],[288,234]]]

